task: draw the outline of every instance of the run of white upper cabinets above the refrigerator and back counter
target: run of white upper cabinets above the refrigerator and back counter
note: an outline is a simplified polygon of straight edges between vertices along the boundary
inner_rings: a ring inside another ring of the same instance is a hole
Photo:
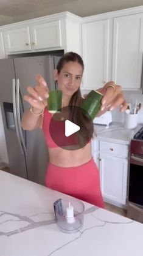
[[[0,28],[0,58],[29,52],[75,51],[85,64],[83,90],[100,88],[111,80],[122,89],[141,88],[142,7],[84,18],[62,12]]]

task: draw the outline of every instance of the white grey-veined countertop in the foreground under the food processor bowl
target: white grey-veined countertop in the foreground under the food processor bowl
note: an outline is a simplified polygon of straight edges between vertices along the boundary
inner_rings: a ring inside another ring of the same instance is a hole
[[[141,223],[85,202],[83,228],[62,233],[53,203],[67,197],[0,171],[0,255],[142,256]]]

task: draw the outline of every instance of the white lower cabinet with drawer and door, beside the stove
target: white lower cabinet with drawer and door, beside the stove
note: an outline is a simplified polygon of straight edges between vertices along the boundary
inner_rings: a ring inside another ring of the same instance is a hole
[[[97,140],[95,143],[97,145]],[[100,187],[104,201],[117,206],[125,206],[127,202],[128,145],[99,140],[99,151],[94,145],[92,156],[99,167]]]

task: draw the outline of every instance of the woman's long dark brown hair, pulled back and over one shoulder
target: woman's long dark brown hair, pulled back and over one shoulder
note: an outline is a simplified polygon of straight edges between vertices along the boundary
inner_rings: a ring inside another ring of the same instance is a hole
[[[69,53],[65,53],[58,62],[57,70],[60,73],[61,69],[67,62],[77,62],[80,64],[84,70],[83,59],[77,53],[73,53],[72,51]],[[83,98],[80,92],[80,88],[72,95],[71,100],[69,102],[70,111],[71,111],[71,121],[82,127],[77,133],[77,143],[79,148],[86,145],[87,141],[89,141],[93,135],[93,124],[91,118],[83,115],[82,105]],[[78,107],[78,108],[75,108]]]

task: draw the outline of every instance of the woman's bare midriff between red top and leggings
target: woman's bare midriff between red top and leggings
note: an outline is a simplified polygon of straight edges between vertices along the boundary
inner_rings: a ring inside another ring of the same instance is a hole
[[[91,143],[77,150],[49,148],[49,162],[59,167],[76,167],[85,164],[92,158]]]

